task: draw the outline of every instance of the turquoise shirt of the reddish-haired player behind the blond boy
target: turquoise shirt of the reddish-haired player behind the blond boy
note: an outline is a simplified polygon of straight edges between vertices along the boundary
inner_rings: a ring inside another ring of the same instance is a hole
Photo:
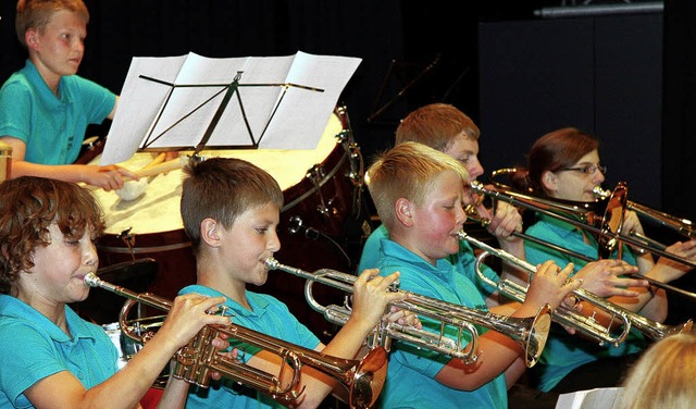
[[[384,238],[389,238],[389,235],[387,233],[387,228],[382,224],[370,234],[362,247],[362,255],[360,256],[360,262],[358,263],[358,273],[365,269],[374,269],[377,265],[381,258],[380,243]],[[467,275],[469,280],[474,283],[480,293],[483,294],[484,298],[495,293],[496,288],[476,277],[474,271],[476,256],[468,241],[459,241],[459,252],[449,256],[448,260],[451,264],[457,265],[458,271],[462,272],[462,274]],[[481,271],[486,277],[488,277],[488,280],[496,283],[500,280],[498,273],[485,264],[482,267]]]

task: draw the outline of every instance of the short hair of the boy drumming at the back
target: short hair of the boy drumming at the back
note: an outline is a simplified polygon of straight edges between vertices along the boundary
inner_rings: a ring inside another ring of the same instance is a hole
[[[83,0],[20,0],[17,1],[17,16],[14,29],[22,46],[26,47],[24,35],[29,28],[42,33],[51,16],[57,11],[67,10],[76,13],[85,25],[89,23],[89,11]]]

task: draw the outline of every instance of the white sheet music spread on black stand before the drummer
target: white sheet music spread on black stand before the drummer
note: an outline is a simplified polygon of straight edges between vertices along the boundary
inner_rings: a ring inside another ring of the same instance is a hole
[[[211,59],[188,53],[134,58],[100,164],[123,162],[146,145],[156,149],[195,147],[238,72],[243,73],[236,95],[206,147],[248,146],[261,138],[260,149],[314,149],[360,61],[301,51],[287,57]],[[284,84],[297,86],[277,86]]]

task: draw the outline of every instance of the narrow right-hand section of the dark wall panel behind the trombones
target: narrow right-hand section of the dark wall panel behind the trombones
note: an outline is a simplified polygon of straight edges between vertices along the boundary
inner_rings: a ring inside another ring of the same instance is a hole
[[[661,208],[662,16],[595,21],[595,129],[608,181]]]

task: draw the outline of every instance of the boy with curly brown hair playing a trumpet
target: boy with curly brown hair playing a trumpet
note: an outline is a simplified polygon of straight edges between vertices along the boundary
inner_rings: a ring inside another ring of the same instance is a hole
[[[67,305],[84,300],[103,233],[90,191],[23,176],[0,184],[0,408],[134,408],[224,297],[177,297],[158,333],[121,370],[107,333]],[[222,339],[213,342],[226,346]],[[183,381],[182,381],[183,382]],[[166,389],[162,407],[183,404]]]

